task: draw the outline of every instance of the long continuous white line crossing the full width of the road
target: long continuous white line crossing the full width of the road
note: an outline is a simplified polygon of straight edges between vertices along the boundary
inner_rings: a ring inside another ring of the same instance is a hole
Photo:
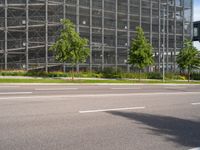
[[[156,95],[200,95],[200,92],[174,92],[174,93],[129,93],[129,94],[81,94],[81,95],[50,95],[26,97],[2,97],[0,100],[9,99],[41,99],[41,98],[84,98],[84,97],[124,97],[124,96],[156,96]]]

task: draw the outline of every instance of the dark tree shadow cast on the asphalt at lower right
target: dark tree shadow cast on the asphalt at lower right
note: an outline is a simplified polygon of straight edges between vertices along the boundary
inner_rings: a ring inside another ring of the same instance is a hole
[[[149,126],[152,134],[187,147],[200,146],[200,122],[145,113],[109,112]],[[166,135],[166,136],[165,136]],[[169,137],[170,136],[170,137]]]

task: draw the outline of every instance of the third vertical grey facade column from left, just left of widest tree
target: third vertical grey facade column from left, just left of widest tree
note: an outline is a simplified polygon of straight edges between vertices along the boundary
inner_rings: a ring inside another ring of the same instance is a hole
[[[45,71],[48,72],[48,0],[45,0]]]

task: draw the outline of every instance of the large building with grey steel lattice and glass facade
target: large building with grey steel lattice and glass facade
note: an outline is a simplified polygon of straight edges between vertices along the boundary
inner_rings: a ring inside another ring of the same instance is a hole
[[[166,70],[175,70],[184,39],[192,37],[192,12],[192,0],[0,0],[0,68],[63,66],[48,48],[60,19],[68,18],[90,41],[91,56],[81,69],[129,71],[128,49],[141,26],[154,47],[155,68],[164,56]]]

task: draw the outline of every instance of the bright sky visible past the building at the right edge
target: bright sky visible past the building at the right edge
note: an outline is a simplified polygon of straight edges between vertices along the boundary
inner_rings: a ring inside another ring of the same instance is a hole
[[[194,21],[200,21],[200,0],[194,0]],[[194,42],[194,45],[200,50],[199,42]]]

